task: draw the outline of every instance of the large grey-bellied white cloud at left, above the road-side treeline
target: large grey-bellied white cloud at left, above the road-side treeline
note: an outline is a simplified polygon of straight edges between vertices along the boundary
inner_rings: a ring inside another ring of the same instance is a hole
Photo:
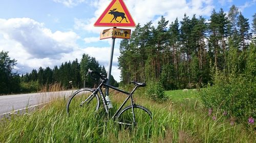
[[[79,36],[74,32],[53,33],[30,18],[0,19],[0,23],[0,50],[10,51],[9,55],[23,66],[45,67],[47,61],[60,60],[63,53],[77,47]]]

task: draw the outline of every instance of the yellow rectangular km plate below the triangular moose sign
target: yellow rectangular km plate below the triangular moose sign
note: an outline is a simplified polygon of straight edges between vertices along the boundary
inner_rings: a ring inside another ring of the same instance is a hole
[[[131,30],[120,29],[120,28],[111,28],[108,30],[103,30],[100,33],[100,40],[106,38],[121,38],[121,39],[130,39]]]

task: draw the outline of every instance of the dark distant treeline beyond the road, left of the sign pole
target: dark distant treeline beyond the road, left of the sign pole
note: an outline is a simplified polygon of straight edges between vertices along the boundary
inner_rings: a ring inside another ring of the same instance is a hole
[[[38,70],[33,69],[31,73],[21,76],[12,72],[17,61],[11,60],[8,52],[2,51],[0,58],[0,94],[36,92],[43,86],[47,87],[52,83],[60,83],[65,89],[93,88],[99,81],[86,76],[88,69],[106,75],[104,66],[100,66],[98,61],[88,54],[83,54],[80,62],[76,59],[73,62],[62,63],[59,67],[55,66],[53,69],[40,67]],[[118,83],[113,76],[111,76],[110,84],[118,87]]]

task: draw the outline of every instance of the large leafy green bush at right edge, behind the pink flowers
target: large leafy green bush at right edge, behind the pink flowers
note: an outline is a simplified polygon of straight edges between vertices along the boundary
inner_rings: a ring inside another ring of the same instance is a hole
[[[256,91],[254,83],[246,76],[231,75],[226,78],[218,73],[215,84],[202,89],[199,95],[207,108],[226,111],[239,121],[246,122],[249,117],[256,117]]]

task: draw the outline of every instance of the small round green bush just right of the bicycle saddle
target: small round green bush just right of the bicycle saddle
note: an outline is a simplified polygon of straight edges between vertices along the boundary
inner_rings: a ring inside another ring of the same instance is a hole
[[[145,96],[156,101],[164,101],[167,96],[164,93],[163,85],[160,81],[148,81],[145,90]]]

